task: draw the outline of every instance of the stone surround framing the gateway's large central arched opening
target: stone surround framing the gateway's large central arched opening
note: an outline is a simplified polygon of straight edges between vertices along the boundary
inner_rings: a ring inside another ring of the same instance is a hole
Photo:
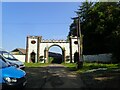
[[[49,49],[53,46],[58,46],[61,49],[61,51],[62,51],[62,62],[65,62],[65,48],[63,48],[63,47],[61,47],[57,44],[53,44],[49,47],[46,47],[45,50],[44,50],[44,57],[45,57],[46,63],[49,63]]]

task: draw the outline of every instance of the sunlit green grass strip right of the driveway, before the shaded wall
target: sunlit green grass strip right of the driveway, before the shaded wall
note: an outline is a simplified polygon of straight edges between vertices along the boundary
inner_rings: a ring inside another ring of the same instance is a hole
[[[86,71],[92,71],[93,69],[120,69],[120,64],[102,64],[102,63],[83,63],[83,67],[81,69],[77,69],[76,63],[63,63],[65,67],[67,67],[71,71],[77,71],[78,73],[85,73]]]

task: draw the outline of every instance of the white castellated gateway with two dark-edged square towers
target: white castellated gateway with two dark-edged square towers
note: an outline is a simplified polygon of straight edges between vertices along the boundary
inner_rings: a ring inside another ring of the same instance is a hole
[[[26,39],[26,62],[49,63],[48,54],[52,46],[58,46],[62,50],[62,61],[74,62],[74,54],[78,52],[77,37],[66,40],[44,40],[42,36],[27,36]]]

